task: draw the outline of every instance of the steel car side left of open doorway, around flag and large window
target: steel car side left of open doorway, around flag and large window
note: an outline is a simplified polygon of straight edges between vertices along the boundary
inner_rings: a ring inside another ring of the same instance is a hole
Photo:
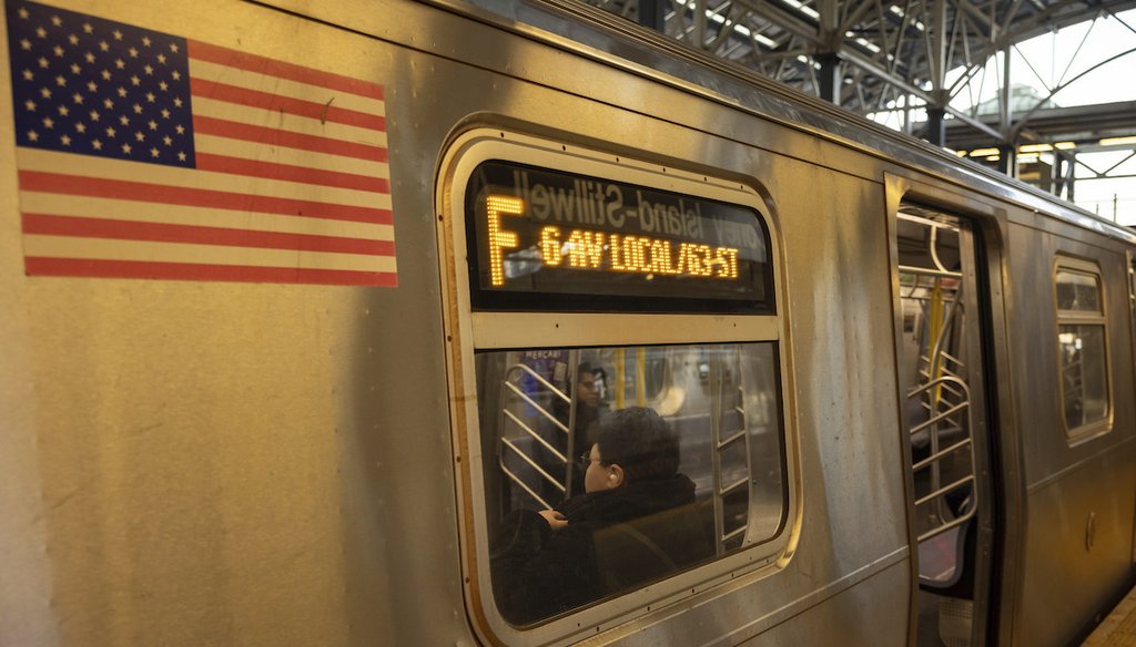
[[[796,553],[776,575],[736,578],[595,640],[905,635],[879,158],[434,8],[289,5],[331,23],[317,24],[219,1],[74,6],[386,84],[399,287],[28,278],[6,166],[0,468],[18,467],[0,476],[0,541],[16,551],[0,604],[25,613],[3,615],[5,639],[474,641],[434,202],[445,143],[473,125],[750,182],[782,233],[804,511]],[[0,110],[10,160],[7,95]],[[817,599],[828,602],[795,617]],[[866,612],[880,599],[883,614]]]

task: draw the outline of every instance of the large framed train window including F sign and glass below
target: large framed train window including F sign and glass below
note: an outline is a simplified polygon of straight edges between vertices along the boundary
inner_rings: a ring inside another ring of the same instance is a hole
[[[767,199],[502,129],[450,151],[438,242],[471,621],[500,644],[566,644],[784,566],[800,481]]]

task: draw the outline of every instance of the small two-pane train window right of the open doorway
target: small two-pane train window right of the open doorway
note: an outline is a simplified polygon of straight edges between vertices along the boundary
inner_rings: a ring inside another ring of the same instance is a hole
[[[1061,410],[1070,439],[1101,432],[1111,412],[1106,327],[1096,266],[1061,258],[1054,272]]]

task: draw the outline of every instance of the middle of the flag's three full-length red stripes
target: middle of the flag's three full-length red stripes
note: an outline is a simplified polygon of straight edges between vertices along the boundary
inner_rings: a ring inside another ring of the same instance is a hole
[[[24,233],[47,236],[192,243],[299,252],[336,252],[371,257],[394,255],[394,243],[392,241],[285,234],[281,232],[231,229],[227,227],[137,222],[134,220],[114,220],[109,218],[77,218],[47,213],[24,213]]]

